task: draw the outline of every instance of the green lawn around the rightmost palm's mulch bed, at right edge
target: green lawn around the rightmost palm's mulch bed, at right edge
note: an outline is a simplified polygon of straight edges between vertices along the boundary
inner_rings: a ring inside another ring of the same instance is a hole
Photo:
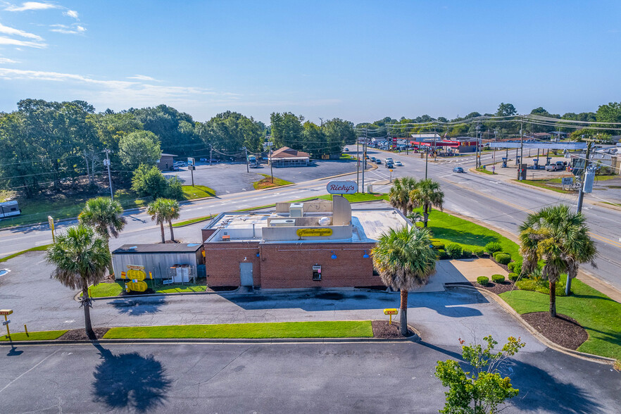
[[[589,333],[578,351],[621,359],[621,303],[579,280],[573,280],[572,292],[556,298],[556,311],[574,318]],[[534,291],[514,290],[500,296],[520,314],[549,308],[549,296]]]

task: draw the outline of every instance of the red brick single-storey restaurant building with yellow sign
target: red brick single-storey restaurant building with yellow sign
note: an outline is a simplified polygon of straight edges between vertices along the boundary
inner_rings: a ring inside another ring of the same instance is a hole
[[[372,287],[370,251],[382,232],[408,225],[393,208],[349,201],[277,203],[271,213],[222,213],[203,228],[207,284],[262,289]]]

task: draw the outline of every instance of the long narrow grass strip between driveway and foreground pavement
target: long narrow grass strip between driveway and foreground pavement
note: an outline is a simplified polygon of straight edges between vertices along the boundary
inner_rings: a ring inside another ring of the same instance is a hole
[[[373,330],[371,328],[370,320],[116,327],[108,330],[108,332],[104,335],[104,338],[106,339],[358,337],[373,337]]]

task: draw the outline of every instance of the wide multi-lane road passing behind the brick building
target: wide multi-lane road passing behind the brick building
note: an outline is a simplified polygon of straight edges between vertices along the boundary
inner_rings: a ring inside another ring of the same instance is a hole
[[[405,166],[394,168],[392,177],[403,175],[423,177],[425,175],[425,160],[419,158],[418,154],[407,156],[405,153],[388,154],[377,150],[370,150],[369,154],[380,156],[380,158],[391,156],[395,160],[402,161]],[[486,154],[484,157],[491,157],[491,154]],[[474,157],[463,157],[459,165],[465,169],[474,166]],[[514,184],[497,175],[453,173],[453,166],[451,163],[429,163],[427,166],[428,176],[442,184],[445,207],[513,234],[517,234],[517,226],[525,220],[528,213],[556,203],[575,206],[577,201],[577,196],[573,194],[541,191],[534,187]],[[390,177],[389,170],[380,166],[365,174],[365,183],[387,180]],[[355,180],[356,174],[350,175],[349,178]],[[360,175],[360,180],[361,178]],[[376,191],[387,189],[388,186],[375,187]],[[325,180],[311,180],[291,187],[263,191],[225,194],[216,199],[186,204],[182,208],[180,220],[321,194],[325,194]],[[621,290],[621,226],[619,225],[621,213],[610,208],[596,206],[590,202],[591,199],[593,199],[592,195],[586,197],[583,211],[589,220],[591,234],[596,239],[600,256],[596,261],[598,268],[584,266],[584,269]],[[125,243],[158,241],[159,229],[152,224],[148,215],[145,213],[126,213],[126,215],[129,223],[120,238],[111,241],[113,249]],[[72,224],[72,222],[66,222],[60,227]],[[178,229],[175,235],[187,242],[200,241],[199,228],[202,225]],[[4,256],[49,242],[51,242],[51,235],[47,225],[3,230],[0,231],[0,255]]]

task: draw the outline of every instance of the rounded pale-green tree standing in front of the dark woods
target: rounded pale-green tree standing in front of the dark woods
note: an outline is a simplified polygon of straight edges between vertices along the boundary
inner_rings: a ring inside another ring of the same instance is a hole
[[[162,155],[158,137],[149,131],[127,134],[121,137],[118,146],[120,161],[130,171],[141,164],[155,165]]]

